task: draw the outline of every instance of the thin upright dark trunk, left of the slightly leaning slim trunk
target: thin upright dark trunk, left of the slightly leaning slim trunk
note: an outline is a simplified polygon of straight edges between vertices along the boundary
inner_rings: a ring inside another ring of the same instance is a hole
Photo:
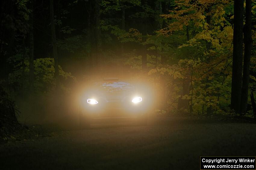
[[[31,1],[29,40],[29,87],[30,94],[34,91],[34,31],[33,31],[33,0]]]

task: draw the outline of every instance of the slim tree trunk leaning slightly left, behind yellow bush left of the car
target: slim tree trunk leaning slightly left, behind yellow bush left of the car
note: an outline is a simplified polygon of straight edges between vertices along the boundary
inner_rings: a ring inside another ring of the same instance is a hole
[[[50,12],[51,12],[52,46],[53,46],[53,56],[54,56],[56,89],[59,90],[60,78],[59,78],[59,64],[58,64],[58,52],[57,52],[57,44],[56,44],[56,33],[55,33],[55,25],[54,25],[53,0],[50,0]]]

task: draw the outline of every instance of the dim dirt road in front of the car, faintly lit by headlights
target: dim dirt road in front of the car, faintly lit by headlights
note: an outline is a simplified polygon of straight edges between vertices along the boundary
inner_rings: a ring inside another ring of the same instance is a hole
[[[200,156],[256,156],[256,124],[168,118],[95,125],[0,146],[0,169],[197,169]]]

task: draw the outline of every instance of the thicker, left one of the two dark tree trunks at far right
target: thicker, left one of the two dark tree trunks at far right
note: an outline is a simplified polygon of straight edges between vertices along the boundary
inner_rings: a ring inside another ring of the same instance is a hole
[[[240,109],[243,58],[243,0],[234,1],[233,67],[231,87],[231,109]]]

